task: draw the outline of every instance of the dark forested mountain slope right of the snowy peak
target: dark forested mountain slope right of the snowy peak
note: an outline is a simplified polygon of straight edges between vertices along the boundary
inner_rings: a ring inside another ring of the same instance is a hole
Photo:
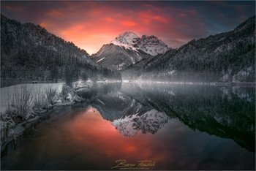
[[[124,79],[255,82],[255,16],[122,71]]]

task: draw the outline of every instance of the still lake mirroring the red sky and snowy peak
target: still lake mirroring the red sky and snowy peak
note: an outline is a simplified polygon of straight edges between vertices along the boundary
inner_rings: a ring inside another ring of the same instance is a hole
[[[1,170],[255,170],[255,88],[112,83],[55,107]]]

